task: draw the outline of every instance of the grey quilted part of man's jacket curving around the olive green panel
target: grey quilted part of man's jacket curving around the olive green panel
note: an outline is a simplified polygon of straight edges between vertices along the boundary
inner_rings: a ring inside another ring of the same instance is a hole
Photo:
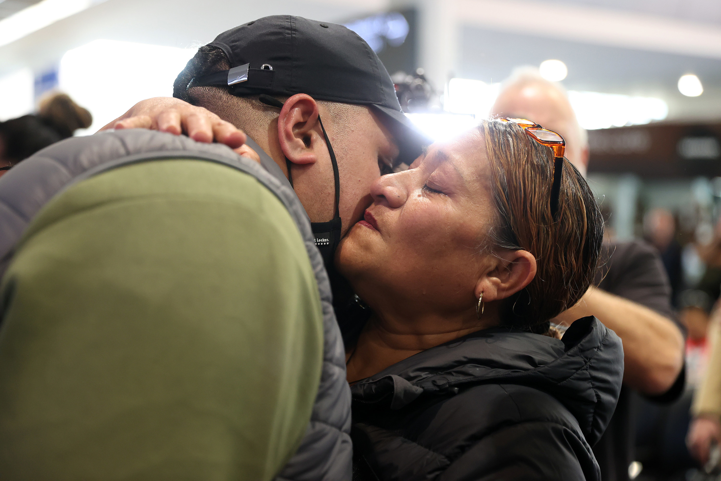
[[[30,221],[70,185],[110,169],[159,159],[216,162],[255,177],[283,203],[304,239],[324,314],[324,358],[317,398],[301,446],[278,475],[288,481],[349,480],[350,389],[345,381],[343,344],[332,309],[331,290],[315,247],[308,217],[275,164],[273,175],[219,144],[199,144],[184,136],[142,129],[70,138],[43,149],[0,178],[0,277],[13,247]],[[264,166],[267,159],[264,159]],[[279,176],[279,177],[274,177]],[[281,178],[282,177],[282,178]]]

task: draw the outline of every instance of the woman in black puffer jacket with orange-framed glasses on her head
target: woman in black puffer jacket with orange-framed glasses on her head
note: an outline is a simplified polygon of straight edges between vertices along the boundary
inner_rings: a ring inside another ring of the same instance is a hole
[[[539,129],[485,121],[430,146],[340,245],[371,312],[347,343],[359,479],[599,479],[621,343],[593,317],[562,340],[549,321],[593,281],[603,221]]]

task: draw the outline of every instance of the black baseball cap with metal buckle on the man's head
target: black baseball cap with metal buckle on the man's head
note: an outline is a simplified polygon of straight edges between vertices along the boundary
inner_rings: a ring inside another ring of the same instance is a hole
[[[368,105],[380,114],[410,164],[428,138],[398,103],[383,63],[365,40],[342,25],[273,15],[221,33],[208,45],[224,51],[229,71],[190,81],[188,87],[229,87],[238,97],[309,94],[316,100]]]

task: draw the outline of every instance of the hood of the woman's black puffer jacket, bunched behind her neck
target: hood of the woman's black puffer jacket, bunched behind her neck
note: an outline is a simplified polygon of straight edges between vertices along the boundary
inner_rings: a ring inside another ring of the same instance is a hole
[[[623,379],[619,337],[595,317],[575,321],[562,340],[493,327],[417,353],[351,388],[354,402],[397,410],[421,395],[477,384],[521,384],[547,392],[593,444],[616,409]]]

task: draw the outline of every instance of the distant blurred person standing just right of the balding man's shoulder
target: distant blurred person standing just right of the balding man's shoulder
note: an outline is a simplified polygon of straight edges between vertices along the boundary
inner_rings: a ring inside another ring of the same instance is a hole
[[[681,292],[684,273],[681,267],[681,244],[676,240],[676,220],[673,213],[665,208],[655,208],[643,217],[645,239],[653,245],[661,256],[663,268],[671,283],[671,305],[677,306],[677,296]]]

